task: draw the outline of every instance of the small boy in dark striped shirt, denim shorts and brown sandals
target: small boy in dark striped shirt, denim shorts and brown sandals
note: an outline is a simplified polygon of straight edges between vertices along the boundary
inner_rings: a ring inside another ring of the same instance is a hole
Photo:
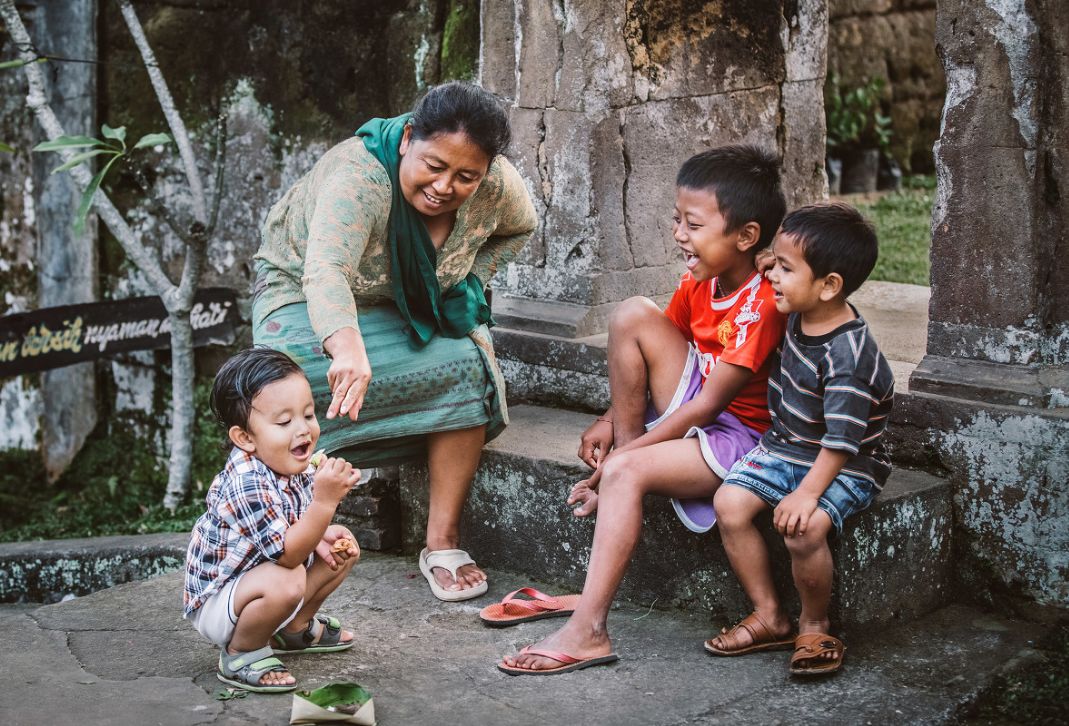
[[[846,204],[787,215],[768,273],[776,308],[788,313],[779,365],[769,375],[772,427],[716,492],[724,549],[754,613],[706,642],[717,655],[790,648],[790,673],[830,674],[842,642],[828,634],[832,552],[827,536],[868,507],[890,473],[880,438],[895,380],[865,320],[850,305],[877,259],[871,225]],[[772,583],[754,519],[773,509],[802,600],[799,634]]]

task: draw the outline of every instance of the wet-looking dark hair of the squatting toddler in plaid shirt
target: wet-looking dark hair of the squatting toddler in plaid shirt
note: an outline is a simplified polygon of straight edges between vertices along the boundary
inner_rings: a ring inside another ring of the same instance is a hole
[[[212,413],[223,431],[231,427],[249,428],[252,399],[266,386],[288,379],[304,375],[300,366],[281,351],[258,345],[248,347],[231,356],[215,374],[212,384]]]

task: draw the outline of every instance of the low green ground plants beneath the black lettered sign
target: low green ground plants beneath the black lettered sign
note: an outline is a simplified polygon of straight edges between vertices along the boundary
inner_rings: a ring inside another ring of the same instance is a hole
[[[171,513],[161,501],[166,451],[149,413],[112,416],[87,439],[58,481],[48,484],[34,451],[0,451],[0,541],[189,531],[203,512],[212,478],[226,461],[207,414],[210,384],[195,391],[190,504]]]

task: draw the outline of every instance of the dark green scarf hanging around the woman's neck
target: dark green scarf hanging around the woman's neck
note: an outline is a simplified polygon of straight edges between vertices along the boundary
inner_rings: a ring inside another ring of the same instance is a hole
[[[485,323],[493,325],[482,281],[474,274],[446,292],[438,285],[438,250],[431,242],[427,225],[401,194],[401,137],[410,113],[393,119],[372,119],[356,135],[365,148],[386,169],[393,197],[387,238],[390,247],[390,273],[393,299],[406,330],[417,346],[423,346],[436,331],[449,338],[463,338]]]

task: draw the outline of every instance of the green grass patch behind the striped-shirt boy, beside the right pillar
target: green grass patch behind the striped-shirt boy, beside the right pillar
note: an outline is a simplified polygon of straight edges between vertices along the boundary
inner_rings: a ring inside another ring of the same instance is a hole
[[[911,176],[901,191],[856,205],[880,238],[880,259],[869,279],[931,284],[928,252],[934,194],[933,177]]]

